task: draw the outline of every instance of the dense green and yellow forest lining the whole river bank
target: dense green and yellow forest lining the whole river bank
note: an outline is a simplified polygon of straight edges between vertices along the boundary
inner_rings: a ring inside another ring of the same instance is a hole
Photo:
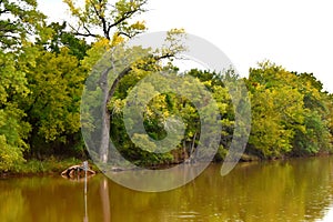
[[[37,10],[36,0],[0,1],[0,171],[31,159],[89,158],[80,123],[84,82],[105,52],[147,30],[143,21],[135,20],[148,10],[147,0],[91,0],[83,8],[74,0],[63,2],[72,13],[72,23],[48,22]],[[183,34],[171,30],[169,40]],[[159,58],[134,63],[109,100],[111,140],[138,164],[178,163],[198,145],[200,115],[184,97],[160,94],[144,113],[144,127],[155,140],[165,137],[162,123],[171,114],[182,118],[184,137],[170,152],[151,153],[134,145],[122,119],[132,87],[152,71],[176,72],[171,61],[181,50],[175,46],[171,51],[161,50],[165,54]],[[315,74],[263,61],[249,69],[248,78],[232,70],[192,69],[184,75],[200,80],[218,102],[223,127],[216,161],[223,160],[233,137],[234,107],[223,83],[226,77],[244,81],[251,99],[248,155],[276,159],[332,152],[333,95],[323,90]]]

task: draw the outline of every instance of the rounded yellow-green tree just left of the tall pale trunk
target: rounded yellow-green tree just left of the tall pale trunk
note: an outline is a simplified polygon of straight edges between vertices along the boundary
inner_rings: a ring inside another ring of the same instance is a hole
[[[46,51],[40,46],[27,46],[22,51],[19,68],[27,74],[30,95],[21,99],[20,108],[32,125],[31,154],[40,158],[63,144],[75,145],[87,71],[79,67],[78,59],[69,54],[65,47],[59,53]],[[60,149],[60,154],[65,152]]]

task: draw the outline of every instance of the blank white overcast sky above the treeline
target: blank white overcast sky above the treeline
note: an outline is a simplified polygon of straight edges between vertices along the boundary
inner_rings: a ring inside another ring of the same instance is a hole
[[[65,19],[62,0],[38,0],[51,18]],[[269,59],[290,71],[313,72],[333,92],[331,0],[150,0],[149,31],[184,28],[219,47],[241,75]]]

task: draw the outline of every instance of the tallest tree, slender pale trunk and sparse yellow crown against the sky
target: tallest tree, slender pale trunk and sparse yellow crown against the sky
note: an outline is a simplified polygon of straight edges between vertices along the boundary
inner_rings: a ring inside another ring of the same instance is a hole
[[[123,41],[123,37],[132,38],[145,30],[143,22],[131,23],[131,20],[144,12],[144,4],[147,0],[119,0],[114,4],[109,4],[108,0],[89,0],[84,2],[84,7],[77,7],[78,1],[74,0],[63,0],[70,11],[72,17],[77,19],[77,24],[71,26],[72,33],[78,37],[94,38],[97,40],[94,47],[88,51],[88,59],[84,59],[83,65],[91,70],[92,67],[98,62],[104,52],[115,47],[118,43]],[[127,74],[127,71],[121,73]],[[104,110],[103,113],[103,132],[102,143],[100,148],[100,157],[103,162],[107,162],[108,147],[109,147],[109,133],[110,133],[110,114],[107,110],[107,104],[112,92],[109,92],[108,72],[103,70],[104,75],[101,77],[102,92],[104,94]],[[120,73],[120,74],[121,74]],[[120,77],[119,79],[121,79]],[[117,83],[114,83],[117,85]],[[114,87],[111,91],[114,91]]]

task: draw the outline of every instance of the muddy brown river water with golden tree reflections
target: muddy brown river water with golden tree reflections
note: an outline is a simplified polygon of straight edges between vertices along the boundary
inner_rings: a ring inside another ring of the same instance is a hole
[[[239,164],[163,193],[122,188],[102,174],[0,180],[1,222],[333,221],[333,158]],[[87,205],[85,205],[87,204]]]

